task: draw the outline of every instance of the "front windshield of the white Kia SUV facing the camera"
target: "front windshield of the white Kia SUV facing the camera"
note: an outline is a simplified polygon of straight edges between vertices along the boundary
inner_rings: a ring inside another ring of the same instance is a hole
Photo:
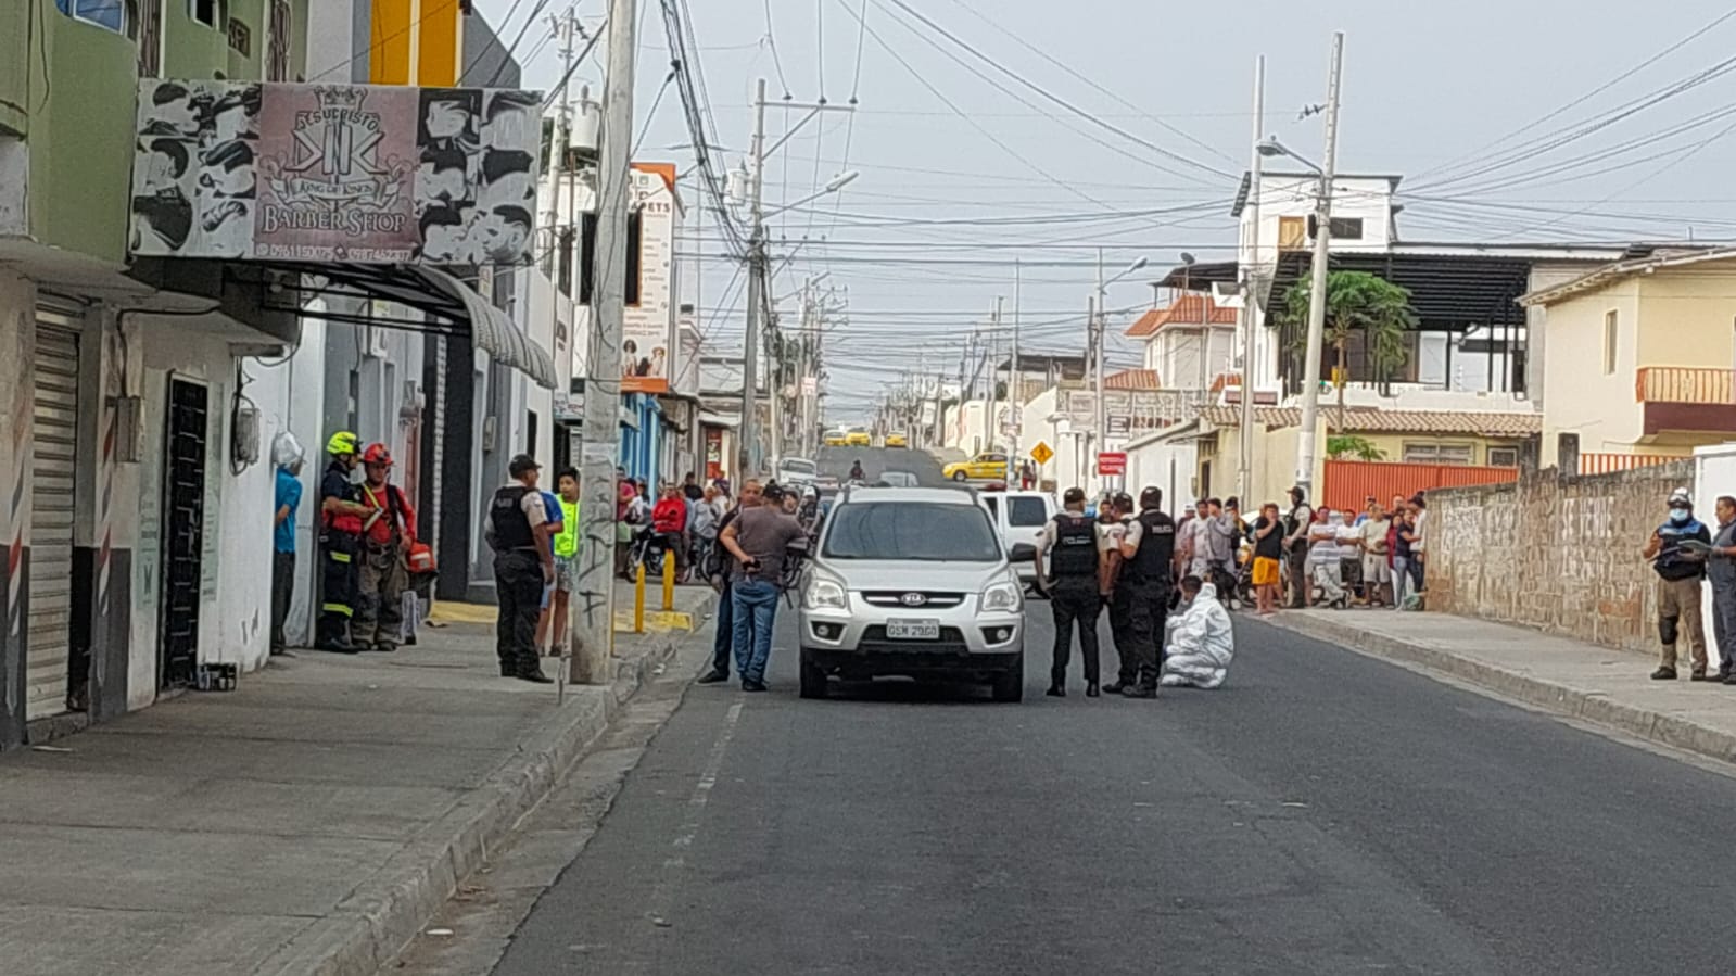
[[[976,505],[866,502],[832,512],[823,552],[830,559],[993,563],[1000,542]]]

